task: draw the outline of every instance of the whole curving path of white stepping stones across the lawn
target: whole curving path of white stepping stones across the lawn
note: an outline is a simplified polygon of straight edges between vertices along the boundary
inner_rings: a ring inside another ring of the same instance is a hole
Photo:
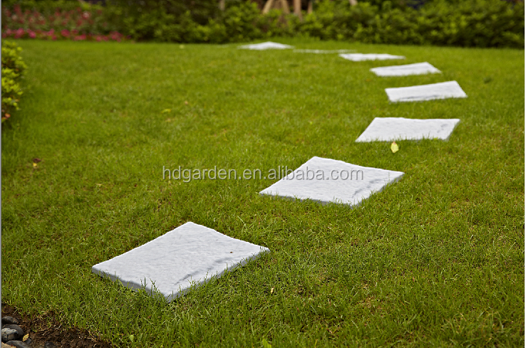
[[[287,49],[293,46],[264,42],[239,46],[249,50]],[[341,50],[296,50],[298,53],[340,53],[352,61],[405,59],[390,54],[343,53]],[[414,63],[371,71],[378,76],[422,75],[440,73],[429,63]],[[386,88],[391,102],[467,97],[456,81],[403,88]],[[438,138],[446,140],[460,122],[453,120],[411,120],[401,117],[375,118],[356,142],[393,141],[398,139]],[[259,194],[289,199],[310,199],[356,206],[371,194],[398,181],[403,172],[361,167],[335,159],[312,157],[298,169],[262,190]],[[175,300],[194,286],[267,253],[269,249],[225,236],[211,228],[185,223],[127,253],[93,265],[92,272],[131,289],[157,290],[166,300]],[[9,328],[6,328],[9,329]],[[15,332],[6,331],[8,334]],[[10,338],[6,336],[6,338]],[[4,339],[4,329],[2,329]]]

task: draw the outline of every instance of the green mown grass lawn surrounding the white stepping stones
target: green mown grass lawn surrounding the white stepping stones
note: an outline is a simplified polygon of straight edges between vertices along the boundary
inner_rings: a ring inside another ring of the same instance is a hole
[[[1,133],[2,301],[117,347],[523,346],[524,51],[282,42],[407,58],[17,41],[29,70]],[[443,73],[369,72],[424,61]],[[450,80],[468,98],[384,92]],[[374,117],[461,122],[393,154],[354,142]],[[276,180],[163,179],[313,156],[406,174],[356,209],[259,196]],[[91,273],[187,221],[271,253],[170,304]]]

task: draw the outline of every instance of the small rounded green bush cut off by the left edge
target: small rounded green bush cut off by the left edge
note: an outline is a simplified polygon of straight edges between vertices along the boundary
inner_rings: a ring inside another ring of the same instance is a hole
[[[1,122],[4,122],[14,110],[19,110],[22,89],[19,84],[27,65],[20,56],[22,48],[15,43],[2,41],[2,102]]]

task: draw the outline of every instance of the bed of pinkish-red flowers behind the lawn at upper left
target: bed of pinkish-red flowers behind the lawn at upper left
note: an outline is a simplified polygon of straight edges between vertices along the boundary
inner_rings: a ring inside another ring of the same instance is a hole
[[[45,40],[122,41],[127,39],[108,23],[102,9],[77,7],[56,9],[44,16],[38,11],[22,11],[2,6],[2,38],[40,38]]]

